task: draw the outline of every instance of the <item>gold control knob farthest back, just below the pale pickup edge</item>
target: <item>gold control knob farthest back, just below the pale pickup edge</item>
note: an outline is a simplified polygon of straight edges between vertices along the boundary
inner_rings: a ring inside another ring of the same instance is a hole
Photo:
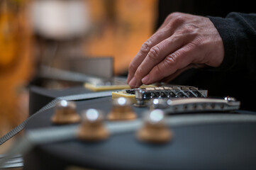
[[[112,102],[112,108],[108,113],[108,120],[134,120],[137,115],[133,111],[132,103],[128,98],[116,98]]]

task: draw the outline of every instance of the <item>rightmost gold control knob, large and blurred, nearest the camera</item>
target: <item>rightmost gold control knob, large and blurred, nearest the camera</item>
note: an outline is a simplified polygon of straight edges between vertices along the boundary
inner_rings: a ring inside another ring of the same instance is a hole
[[[172,131],[165,124],[165,113],[156,109],[145,114],[145,122],[138,130],[138,140],[150,143],[166,143],[172,139]]]

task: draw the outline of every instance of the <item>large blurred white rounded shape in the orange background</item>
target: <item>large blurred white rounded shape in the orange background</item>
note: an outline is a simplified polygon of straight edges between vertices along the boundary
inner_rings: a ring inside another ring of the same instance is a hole
[[[86,1],[33,1],[30,16],[35,33],[45,38],[81,37],[89,28]]]

